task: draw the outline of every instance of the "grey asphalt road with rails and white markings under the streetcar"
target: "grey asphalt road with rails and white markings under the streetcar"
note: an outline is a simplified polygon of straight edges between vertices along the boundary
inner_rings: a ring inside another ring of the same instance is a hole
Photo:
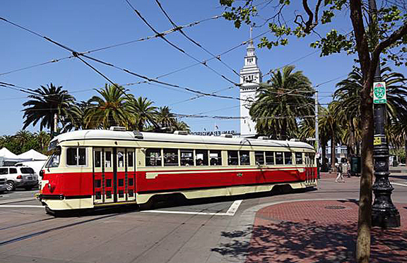
[[[0,262],[244,262],[220,247],[251,226],[260,204],[282,200],[358,199],[359,178],[319,181],[318,190],[162,203],[151,211],[107,209],[54,218],[36,191],[0,196]],[[407,203],[407,175],[391,177],[392,200]],[[32,199],[31,199],[32,198]],[[241,236],[241,235],[240,235]],[[244,238],[250,238],[244,237]]]

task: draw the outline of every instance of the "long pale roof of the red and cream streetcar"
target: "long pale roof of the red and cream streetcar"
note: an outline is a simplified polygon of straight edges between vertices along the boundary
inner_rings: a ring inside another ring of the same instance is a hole
[[[141,137],[142,136],[142,137]],[[64,142],[70,140],[138,140],[152,142],[183,142],[199,144],[217,144],[217,145],[254,145],[269,147],[300,147],[314,149],[305,142],[293,142],[288,140],[260,140],[244,137],[222,137],[222,136],[201,136],[201,135],[177,135],[172,133],[147,133],[131,132],[117,130],[76,130],[69,133],[58,135],[52,140],[55,142]]]

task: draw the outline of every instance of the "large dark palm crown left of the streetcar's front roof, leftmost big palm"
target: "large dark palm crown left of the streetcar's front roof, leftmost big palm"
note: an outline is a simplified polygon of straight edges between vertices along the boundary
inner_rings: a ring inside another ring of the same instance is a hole
[[[23,106],[28,107],[23,109],[23,129],[30,124],[35,126],[40,121],[40,130],[49,128],[51,135],[54,135],[54,117],[57,115],[59,121],[67,116],[75,98],[62,90],[62,86],[55,87],[52,83],[33,90],[33,93],[37,94],[28,96],[30,100],[23,103]]]

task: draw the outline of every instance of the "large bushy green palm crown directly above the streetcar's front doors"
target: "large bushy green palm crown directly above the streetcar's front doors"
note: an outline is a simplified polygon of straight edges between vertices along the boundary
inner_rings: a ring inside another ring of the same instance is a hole
[[[129,126],[129,111],[125,105],[132,98],[126,94],[124,87],[107,85],[101,90],[96,90],[99,96],[88,100],[88,109],[85,110],[83,122],[86,128],[110,128],[111,126]]]

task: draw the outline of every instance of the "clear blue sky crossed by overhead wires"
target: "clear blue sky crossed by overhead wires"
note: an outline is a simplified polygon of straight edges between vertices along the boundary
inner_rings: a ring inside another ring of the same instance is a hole
[[[159,32],[172,28],[155,1],[131,0],[130,2]],[[223,8],[220,7],[217,0],[160,2],[178,25],[187,25],[223,13]],[[259,1],[259,3],[261,2]],[[295,6],[292,9],[294,10]],[[262,12],[266,10],[264,9]],[[285,14],[287,20],[295,17],[293,10],[287,11]],[[271,12],[271,9],[269,11]],[[18,25],[28,27],[30,30],[54,39],[76,51],[88,51],[154,35],[124,0],[6,1],[2,5],[0,16]],[[342,13],[336,25],[340,32],[348,32],[351,29],[348,13]],[[319,32],[323,35],[326,30],[329,30],[329,27],[321,28]],[[253,35],[259,35],[265,31],[266,27],[254,28]],[[194,27],[187,27],[184,32],[213,54],[228,51],[249,38],[249,27],[242,25],[240,29],[236,29],[230,21],[223,18],[208,20]],[[69,51],[29,32],[20,30],[18,27],[4,23],[4,21],[0,21],[0,33],[0,81],[2,82],[31,89],[52,82],[54,85],[63,86],[78,101],[89,99],[96,94],[94,88],[103,87],[107,82],[78,59],[68,59],[1,75],[8,71],[63,58],[70,54]],[[267,36],[271,37],[270,34]],[[210,55],[189,42],[179,32],[167,35],[167,39],[200,61],[210,58]],[[292,39],[286,47],[276,47],[272,50],[256,49],[261,71],[265,74],[273,68],[280,68],[298,60],[293,63],[296,70],[303,71],[313,85],[334,78],[339,78],[338,80],[346,78],[353,66],[353,57],[338,54],[320,58],[318,52],[311,54],[314,49],[309,48],[309,43],[314,39],[315,37],[300,41]],[[255,39],[254,44],[258,43],[259,39]],[[238,72],[243,66],[245,54],[246,46],[241,46],[223,55],[221,59]],[[311,55],[307,56],[308,54]],[[149,78],[155,78],[196,63],[159,38],[98,51],[90,55],[135,73],[146,75]],[[301,59],[303,56],[307,57]],[[98,63],[92,64],[111,80],[121,85],[141,80],[134,75],[126,74],[114,68]],[[208,66],[225,77],[239,82],[238,76],[218,61],[209,61]],[[407,75],[405,68],[391,67]],[[268,79],[269,76],[265,77],[264,81]],[[160,80],[203,92],[213,92],[231,86],[230,82],[201,65],[167,75]],[[319,87],[321,92],[319,97],[322,104],[331,100],[330,94],[334,92],[335,83],[338,80]],[[196,95],[149,84],[126,87],[136,97],[147,97],[155,103],[155,106],[170,106],[172,111],[177,114],[239,116],[239,101],[237,100],[201,97],[189,102],[178,103]],[[239,89],[233,87],[218,94],[239,97]],[[0,135],[11,135],[23,127],[22,104],[26,100],[26,94],[0,87]],[[220,130],[239,131],[239,121],[237,120],[225,121],[211,118],[183,118],[182,120],[189,124],[192,131],[213,130],[215,124]],[[38,128],[39,126],[30,126],[28,130],[36,131]]]

